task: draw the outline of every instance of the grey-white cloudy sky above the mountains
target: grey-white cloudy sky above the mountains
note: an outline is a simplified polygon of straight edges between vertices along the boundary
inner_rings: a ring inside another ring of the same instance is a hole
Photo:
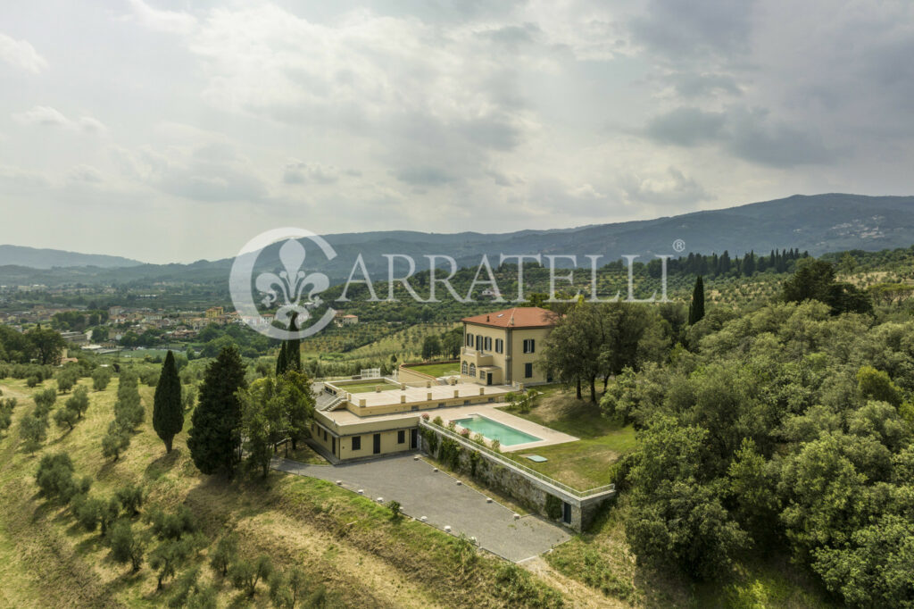
[[[0,243],[573,227],[914,194],[908,0],[0,5]]]

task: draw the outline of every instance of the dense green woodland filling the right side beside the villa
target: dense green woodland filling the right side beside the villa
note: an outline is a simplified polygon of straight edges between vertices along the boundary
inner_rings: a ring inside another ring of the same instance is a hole
[[[846,604],[914,603],[909,312],[810,259],[778,302],[682,320],[581,302],[547,340],[547,369],[594,401],[602,380],[639,430],[616,478],[638,561],[720,580],[789,552]]]

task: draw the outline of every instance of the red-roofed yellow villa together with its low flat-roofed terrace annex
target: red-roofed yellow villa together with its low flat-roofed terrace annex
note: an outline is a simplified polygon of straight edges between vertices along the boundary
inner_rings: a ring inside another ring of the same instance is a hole
[[[438,409],[447,409],[441,412],[445,420],[485,412],[494,420],[507,424],[510,419],[512,426],[526,427],[528,422],[494,406],[504,406],[509,391],[549,380],[534,364],[554,325],[554,314],[538,307],[475,315],[463,319],[464,347],[450,375],[435,378],[403,368],[398,379],[320,383],[312,428],[315,447],[333,462],[415,450],[420,416],[428,412],[434,417]],[[531,433],[536,442],[518,447],[569,437],[543,437],[548,431],[537,426]]]

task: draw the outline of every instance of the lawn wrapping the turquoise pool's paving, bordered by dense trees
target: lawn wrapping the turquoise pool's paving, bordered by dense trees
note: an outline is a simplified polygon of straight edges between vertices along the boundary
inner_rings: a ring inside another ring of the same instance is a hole
[[[547,389],[537,405],[526,414],[514,409],[506,410],[528,421],[580,438],[577,442],[507,454],[518,463],[580,490],[610,484],[614,473],[612,465],[622,454],[635,447],[632,425],[607,419],[597,405],[577,401],[573,394],[561,390]],[[544,456],[547,462],[534,463],[522,456],[524,454]]]

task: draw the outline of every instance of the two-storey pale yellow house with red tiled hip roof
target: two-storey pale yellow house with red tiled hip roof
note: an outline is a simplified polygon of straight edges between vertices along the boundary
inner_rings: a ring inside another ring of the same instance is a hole
[[[463,320],[461,380],[480,385],[549,382],[537,366],[556,315],[537,306],[515,307]]]

